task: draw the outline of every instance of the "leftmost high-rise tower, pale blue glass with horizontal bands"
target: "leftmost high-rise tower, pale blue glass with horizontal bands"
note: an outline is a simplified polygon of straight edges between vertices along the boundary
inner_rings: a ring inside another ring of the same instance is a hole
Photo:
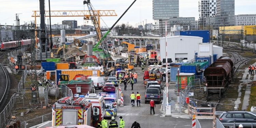
[[[179,0],[153,0],[153,19],[179,17]]]

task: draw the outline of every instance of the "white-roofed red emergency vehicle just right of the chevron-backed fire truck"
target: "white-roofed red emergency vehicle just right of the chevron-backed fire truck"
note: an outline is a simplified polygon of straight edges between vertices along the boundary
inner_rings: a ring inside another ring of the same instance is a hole
[[[86,97],[86,101],[90,101],[93,108],[93,126],[97,127],[101,118],[106,115],[105,101],[103,96],[97,94],[89,94]]]

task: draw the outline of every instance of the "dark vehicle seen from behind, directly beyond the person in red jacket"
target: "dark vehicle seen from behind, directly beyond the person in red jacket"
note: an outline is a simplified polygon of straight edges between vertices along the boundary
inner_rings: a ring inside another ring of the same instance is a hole
[[[161,102],[161,94],[158,88],[147,88],[145,93],[145,103],[154,100],[156,103]]]

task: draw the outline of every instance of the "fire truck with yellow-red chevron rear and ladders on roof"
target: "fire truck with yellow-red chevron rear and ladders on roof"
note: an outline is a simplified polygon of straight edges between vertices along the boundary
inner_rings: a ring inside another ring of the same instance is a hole
[[[52,113],[52,126],[93,124],[92,103],[84,97],[63,97],[53,105]]]

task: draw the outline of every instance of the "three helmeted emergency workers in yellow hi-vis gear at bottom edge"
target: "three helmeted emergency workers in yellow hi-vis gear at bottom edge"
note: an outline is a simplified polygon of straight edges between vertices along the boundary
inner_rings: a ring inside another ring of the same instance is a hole
[[[120,120],[119,121],[119,128],[124,128],[125,127],[125,121],[123,120],[123,117],[120,116],[119,120]],[[108,128],[108,120],[106,119],[106,117],[102,118],[98,122],[98,128]],[[109,128],[118,128],[118,124],[117,124],[117,121],[115,120],[114,116],[111,117],[111,121],[109,123]]]

